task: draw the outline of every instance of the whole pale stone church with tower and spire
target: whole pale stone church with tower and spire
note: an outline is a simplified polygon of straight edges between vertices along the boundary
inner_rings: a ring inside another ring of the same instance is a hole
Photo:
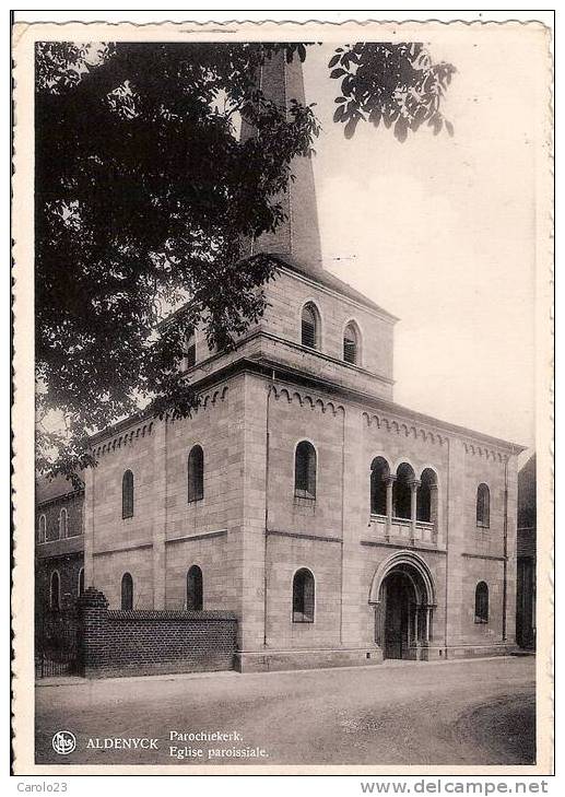
[[[261,85],[304,99],[297,62]],[[294,172],[251,253],[278,263],[264,315],[234,350],[190,341],[199,408],[92,438],[86,585],[235,612],[242,671],[507,654],[522,448],[395,402],[398,319],[325,268],[311,163]]]

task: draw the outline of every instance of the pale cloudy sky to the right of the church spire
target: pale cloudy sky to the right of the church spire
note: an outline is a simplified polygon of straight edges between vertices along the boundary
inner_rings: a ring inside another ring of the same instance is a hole
[[[304,66],[322,125],[314,169],[323,266],[401,319],[395,400],[526,446],[539,44],[478,28],[431,43],[434,60],[458,70],[444,105],[455,136],[422,128],[402,144],[368,125],[348,141],[333,124],[332,46],[309,48]]]

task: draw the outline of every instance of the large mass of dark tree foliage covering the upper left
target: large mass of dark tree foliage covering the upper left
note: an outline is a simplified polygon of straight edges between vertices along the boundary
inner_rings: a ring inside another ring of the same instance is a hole
[[[257,89],[257,68],[279,52],[303,58],[306,48],[120,43],[89,63],[80,48],[39,47],[40,467],[59,454],[56,467],[72,469],[87,432],[140,401],[188,412],[195,396],[178,368],[187,331],[203,318],[210,347],[225,348],[260,317],[273,265],[243,261],[245,241],[280,223],[273,198],[319,130],[311,107],[286,112]],[[255,136],[235,137],[236,113]],[[165,333],[164,308],[187,297]],[[68,433],[42,431],[54,411]]]

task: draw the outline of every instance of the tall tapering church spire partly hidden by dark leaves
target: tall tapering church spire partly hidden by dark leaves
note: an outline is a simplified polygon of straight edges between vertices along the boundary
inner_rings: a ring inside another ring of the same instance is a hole
[[[287,63],[283,51],[273,55],[260,68],[259,87],[266,97],[281,107],[289,108],[291,99],[305,105],[304,77],[298,57]],[[242,141],[252,134],[254,128],[244,121]],[[252,243],[252,254],[286,255],[296,261],[301,270],[316,272],[322,265],[311,160],[295,157],[291,169],[295,179],[290,180],[284,196],[280,198],[286,219],[274,233],[264,233]]]

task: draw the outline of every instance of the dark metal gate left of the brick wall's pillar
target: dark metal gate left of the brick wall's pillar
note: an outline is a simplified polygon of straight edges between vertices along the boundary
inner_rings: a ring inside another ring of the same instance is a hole
[[[43,610],[35,617],[35,677],[79,670],[79,619],[74,609]]]

